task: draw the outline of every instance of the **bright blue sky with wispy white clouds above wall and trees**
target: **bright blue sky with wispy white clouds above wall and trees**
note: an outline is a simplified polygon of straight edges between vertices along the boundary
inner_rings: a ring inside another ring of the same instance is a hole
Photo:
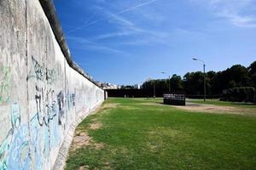
[[[73,59],[96,81],[136,84],[256,60],[256,0],[55,0]]]

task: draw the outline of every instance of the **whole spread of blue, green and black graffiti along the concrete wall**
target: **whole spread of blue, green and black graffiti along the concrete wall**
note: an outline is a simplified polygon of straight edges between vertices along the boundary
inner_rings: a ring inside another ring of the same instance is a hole
[[[59,149],[70,119],[73,119],[76,111],[89,111],[90,107],[85,109],[84,105],[94,106],[95,99],[90,95],[98,95],[98,90],[93,88],[92,91],[96,91],[94,94],[84,84],[76,93],[76,89],[63,84],[67,82],[61,82],[61,79],[57,81],[58,71],[33,56],[31,60],[32,65],[26,77],[32,86],[29,89],[30,113],[24,112],[27,105],[19,105],[10,99],[11,83],[15,83],[11,82],[10,73],[13,72],[9,67],[0,67],[0,107],[3,103],[9,107],[9,127],[0,140],[0,170],[45,169],[52,153]],[[29,114],[29,121],[26,120],[26,114]]]

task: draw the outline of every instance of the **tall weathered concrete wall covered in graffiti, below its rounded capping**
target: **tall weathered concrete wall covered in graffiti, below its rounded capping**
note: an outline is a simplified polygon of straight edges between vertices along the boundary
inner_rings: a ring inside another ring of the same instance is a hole
[[[38,0],[0,0],[0,170],[52,169],[104,91],[67,64]]]

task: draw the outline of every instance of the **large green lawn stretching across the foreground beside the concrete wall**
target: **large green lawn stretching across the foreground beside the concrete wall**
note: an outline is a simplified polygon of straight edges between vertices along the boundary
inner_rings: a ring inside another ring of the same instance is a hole
[[[191,113],[154,102],[108,99],[77,128],[102,147],[71,150],[66,169],[256,169],[256,117]],[[90,128],[96,122],[102,127]]]

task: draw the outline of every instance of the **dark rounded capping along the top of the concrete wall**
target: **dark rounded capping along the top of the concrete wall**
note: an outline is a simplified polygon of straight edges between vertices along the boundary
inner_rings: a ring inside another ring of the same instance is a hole
[[[88,79],[90,82],[94,83],[97,87],[101,88],[99,84],[97,84],[92,78],[84,72],[82,68],[77,65],[72,58],[72,54],[67,45],[66,38],[62,31],[61,22],[57,17],[55,4],[53,0],[39,0],[41,3],[42,8],[44,9],[44,14],[46,15],[47,19],[49,20],[49,25],[51,26],[52,31],[55,34],[55,38],[61,47],[61,52],[64,54],[64,57],[67,59],[67,63],[73,70],[79,72],[80,75]]]

